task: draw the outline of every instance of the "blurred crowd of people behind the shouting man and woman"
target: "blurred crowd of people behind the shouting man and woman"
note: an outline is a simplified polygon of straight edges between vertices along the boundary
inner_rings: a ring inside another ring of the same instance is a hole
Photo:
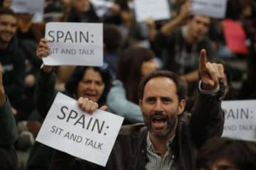
[[[101,5],[100,1],[109,3]],[[1,7],[11,7],[11,0],[0,2]],[[100,89],[100,83],[92,85],[83,80],[91,91],[88,95],[101,91],[95,101],[106,104],[111,113],[124,116],[124,124],[143,121],[137,89],[140,79],[157,69],[174,71],[187,80],[189,110],[197,89],[198,55],[202,48],[207,49],[211,61],[224,65],[224,100],[256,99],[256,1],[228,0],[225,17],[221,19],[190,15],[187,0],[169,0],[169,8],[170,20],[148,18],[145,22],[136,22],[132,0],[45,0],[43,22],[33,22],[33,14],[19,13],[15,14],[15,29],[4,25],[7,19],[0,12],[0,39],[6,42],[0,43],[0,62],[19,133],[15,142],[19,169],[33,169],[38,164],[46,164],[41,168],[47,169],[50,158],[51,151],[39,158],[33,150],[44,119],[34,100],[42,64],[36,57],[36,47],[45,37],[48,22],[103,23],[104,65],[56,67],[55,89],[79,93],[76,87],[85,72],[100,73],[99,81],[103,81],[105,89]],[[238,25],[244,37],[237,40],[236,33],[228,35],[233,30],[229,22],[235,23],[236,28]],[[232,48],[230,37],[233,41],[242,41],[244,50]]]

